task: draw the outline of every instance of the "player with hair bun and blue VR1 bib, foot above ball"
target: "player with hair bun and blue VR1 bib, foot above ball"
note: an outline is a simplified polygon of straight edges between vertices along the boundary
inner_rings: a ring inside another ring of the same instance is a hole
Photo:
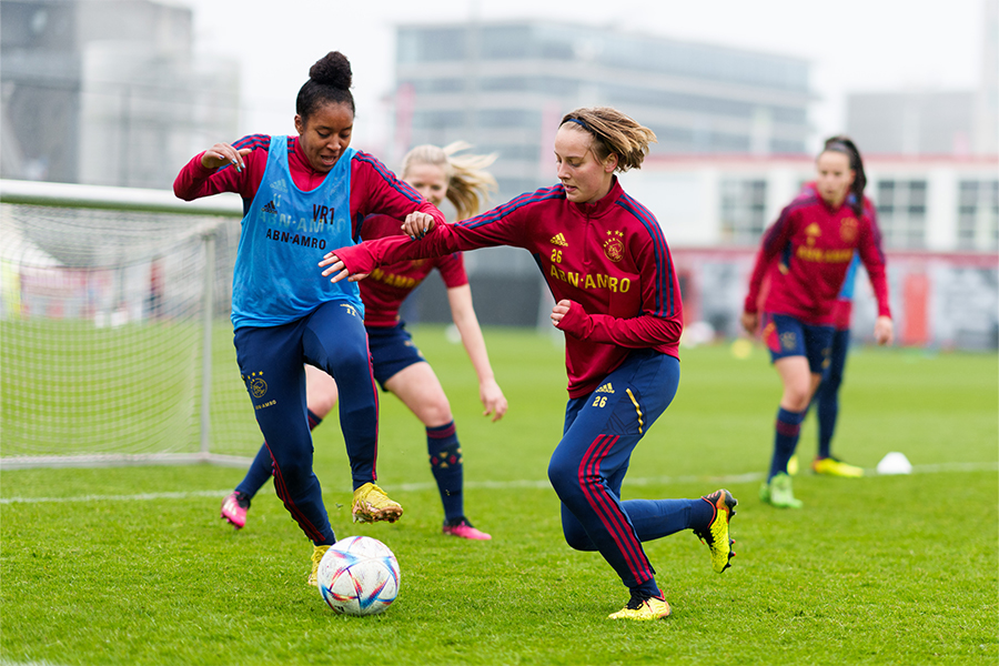
[[[339,51],[309,70],[295,102],[297,137],[253,134],[216,143],[180,172],[174,193],[191,201],[219,192],[243,198],[232,290],[236,362],[273,461],[274,487],[313,543],[312,573],[335,543],[312,471],[306,420],[307,363],[336,379],[351,464],[355,521],[394,522],[402,507],[375,485],[379,396],[369,359],[360,291],[309,269],[331,248],[350,245],[373,213],[414,230],[444,216],[373,157],[350,148],[351,65]]]

